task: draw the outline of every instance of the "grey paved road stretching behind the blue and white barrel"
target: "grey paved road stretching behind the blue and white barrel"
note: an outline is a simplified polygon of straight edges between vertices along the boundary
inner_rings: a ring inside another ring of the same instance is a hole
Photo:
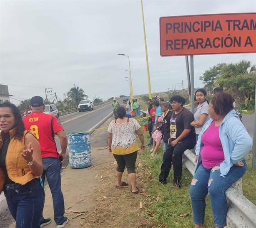
[[[84,132],[89,130],[98,122],[100,122],[100,120],[105,118],[105,116],[111,112],[113,112],[111,102],[105,103],[103,105],[95,106],[94,110],[91,110],[91,111],[86,111],[81,113],[76,112],[76,113],[70,113],[65,116],[61,116],[60,123],[62,123],[67,133]],[[56,144],[58,147],[58,151],[60,151],[60,143],[58,139],[56,139]],[[0,227],[7,228],[12,221],[13,221],[13,218],[11,217],[10,212],[7,208],[5,197],[3,196],[3,194],[1,194],[0,195]]]

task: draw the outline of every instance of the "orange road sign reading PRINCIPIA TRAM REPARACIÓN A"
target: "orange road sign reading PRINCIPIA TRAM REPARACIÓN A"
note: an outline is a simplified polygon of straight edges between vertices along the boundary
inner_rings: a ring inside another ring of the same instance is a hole
[[[160,17],[161,56],[256,52],[256,13]]]

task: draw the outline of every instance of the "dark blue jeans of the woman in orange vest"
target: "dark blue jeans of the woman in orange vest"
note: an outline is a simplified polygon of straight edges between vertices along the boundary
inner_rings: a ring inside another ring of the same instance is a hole
[[[4,193],[10,213],[16,221],[16,228],[40,228],[45,191],[39,179],[25,185],[6,184]]]

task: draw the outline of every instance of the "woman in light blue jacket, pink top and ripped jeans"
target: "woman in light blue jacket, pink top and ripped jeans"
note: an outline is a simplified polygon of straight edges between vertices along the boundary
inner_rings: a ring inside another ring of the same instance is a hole
[[[225,192],[245,174],[244,158],[252,148],[252,139],[233,109],[230,94],[214,97],[209,104],[209,115],[211,119],[198,136],[196,171],[190,186],[195,228],[203,228],[207,194],[215,227],[226,226]]]

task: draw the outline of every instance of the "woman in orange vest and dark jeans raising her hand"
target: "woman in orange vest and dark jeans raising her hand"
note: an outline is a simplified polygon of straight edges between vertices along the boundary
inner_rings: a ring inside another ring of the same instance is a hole
[[[12,103],[0,104],[0,130],[0,193],[5,193],[16,228],[40,228],[45,193],[39,142],[25,130]]]

